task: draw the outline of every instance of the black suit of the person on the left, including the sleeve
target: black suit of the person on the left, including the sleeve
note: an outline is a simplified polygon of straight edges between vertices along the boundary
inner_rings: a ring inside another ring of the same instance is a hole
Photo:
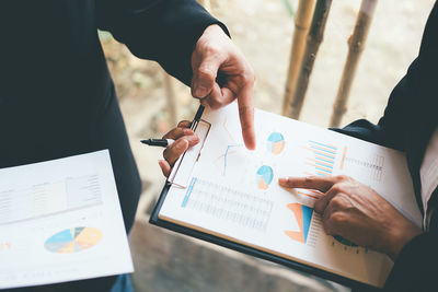
[[[189,83],[193,48],[215,23],[195,0],[0,1],[0,168],[110,149],[128,231],[140,179],[97,28]],[[113,282],[44,291],[105,291]]]

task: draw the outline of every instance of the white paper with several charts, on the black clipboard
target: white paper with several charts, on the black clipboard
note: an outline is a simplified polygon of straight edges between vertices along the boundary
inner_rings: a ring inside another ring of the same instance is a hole
[[[175,177],[186,176],[187,187],[171,187],[160,219],[360,282],[384,283],[393,265],[389,257],[327,236],[312,208],[322,194],[285,190],[278,178],[346,174],[420,225],[403,153],[257,109],[257,147],[247,151],[235,103],[206,109],[203,119],[211,124],[204,145],[186,153]],[[200,122],[196,131],[203,136],[206,128]],[[194,164],[188,157],[200,148]]]

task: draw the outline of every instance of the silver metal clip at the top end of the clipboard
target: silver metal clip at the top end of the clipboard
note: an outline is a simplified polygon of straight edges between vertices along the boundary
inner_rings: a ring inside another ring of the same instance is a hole
[[[168,178],[168,183],[172,186],[177,186],[180,188],[188,187],[188,180],[192,177],[196,163],[199,161],[200,152],[203,151],[204,143],[211,128],[210,122],[201,119],[203,113],[204,106],[199,105],[191,126],[191,129],[199,137],[199,143],[185,151],[176,161]]]

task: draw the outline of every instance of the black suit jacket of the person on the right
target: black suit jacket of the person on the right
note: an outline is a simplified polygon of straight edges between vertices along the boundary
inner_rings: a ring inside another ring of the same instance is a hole
[[[384,66],[384,65],[382,65]],[[391,93],[378,125],[357,120],[341,132],[406,152],[418,207],[423,212],[419,168],[438,126],[438,4],[424,31],[418,57]],[[435,195],[437,195],[435,192]],[[433,196],[434,203],[438,198]],[[430,202],[429,201],[429,202]],[[433,208],[438,205],[433,206]],[[387,280],[389,291],[436,291],[438,226],[406,244]]]

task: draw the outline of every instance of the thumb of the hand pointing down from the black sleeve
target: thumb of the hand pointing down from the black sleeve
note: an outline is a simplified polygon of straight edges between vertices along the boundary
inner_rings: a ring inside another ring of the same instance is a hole
[[[192,95],[204,98],[211,91],[216,83],[221,61],[217,56],[203,56],[200,63],[193,67]]]

